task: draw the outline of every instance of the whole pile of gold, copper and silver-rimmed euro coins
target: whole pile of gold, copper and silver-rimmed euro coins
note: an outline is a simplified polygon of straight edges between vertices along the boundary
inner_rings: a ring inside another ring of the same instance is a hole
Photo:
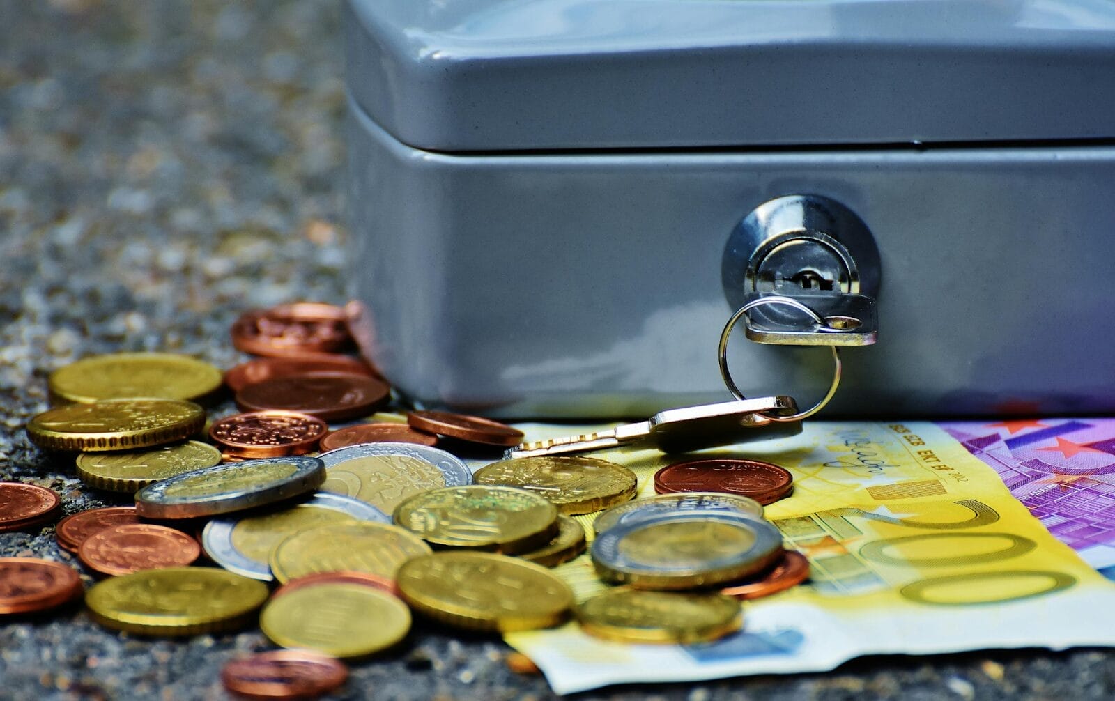
[[[76,454],[89,487],[135,495],[134,507],[74,514],[56,528],[60,547],[106,577],[86,594],[96,621],[148,635],[258,622],[291,650],[230,663],[225,684],[255,693],[253,670],[272,670],[269,693],[306,695],[343,682],[332,659],[403,641],[411,614],[473,631],[572,617],[611,640],[714,640],[739,629],[739,600],[808,575],[763,519],[763,504],[792,491],[783,468],[671,465],[655,475],[659,496],[637,500],[634,473],[589,457],[496,460],[474,474],[443,448],[494,450],[523,434],[445,411],[369,421],[390,387],[345,354],[349,319],[317,303],[249,312],[233,344],[260,357],[223,376],[168,353],[87,358],[51,376],[51,396],[72,403],[32,418],[30,439]],[[222,377],[242,412],[206,430],[203,403]],[[0,500],[17,495],[25,506],[4,509],[0,529],[59,512],[50,490],[0,483]],[[578,518],[598,513],[591,561],[615,586],[576,604],[550,568],[585,553],[590,522]],[[193,564],[202,557],[216,567]],[[80,595],[72,567],[25,559],[0,559],[0,613]]]

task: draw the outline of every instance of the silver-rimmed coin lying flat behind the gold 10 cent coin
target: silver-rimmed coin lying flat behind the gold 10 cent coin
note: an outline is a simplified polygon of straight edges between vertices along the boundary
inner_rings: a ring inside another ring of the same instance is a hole
[[[407,497],[473,484],[473,473],[456,456],[430,448],[398,442],[346,446],[322,452],[326,481],[332,491],[371,504],[385,514],[395,512]]]

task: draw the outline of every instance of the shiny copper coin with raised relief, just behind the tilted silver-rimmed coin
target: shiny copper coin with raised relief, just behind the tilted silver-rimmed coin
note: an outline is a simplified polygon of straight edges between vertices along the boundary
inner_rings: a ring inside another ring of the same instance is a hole
[[[328,432],[328,423],[308,413],[269,410],[214,421],[210,439],[235,457],[278,458],[313,451]]]

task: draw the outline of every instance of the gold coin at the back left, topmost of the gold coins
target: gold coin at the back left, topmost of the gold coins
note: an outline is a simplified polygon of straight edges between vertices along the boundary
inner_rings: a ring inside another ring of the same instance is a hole
[[[50,373],[50,392],[66,401],[152,397],[198,399],[221,387],[221,371],[175,353],[109,353],[83,358]]]

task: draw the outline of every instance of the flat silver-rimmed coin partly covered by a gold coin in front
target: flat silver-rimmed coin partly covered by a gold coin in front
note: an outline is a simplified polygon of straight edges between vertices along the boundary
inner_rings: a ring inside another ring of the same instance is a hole
[[[381,510],[352,497],[321,491],[290,508],[242,518],[214,518],[202,530],[205,553],[229,572],[271,582],[271,551],[288,536],[318,526],[371,520],[391,523]]]

